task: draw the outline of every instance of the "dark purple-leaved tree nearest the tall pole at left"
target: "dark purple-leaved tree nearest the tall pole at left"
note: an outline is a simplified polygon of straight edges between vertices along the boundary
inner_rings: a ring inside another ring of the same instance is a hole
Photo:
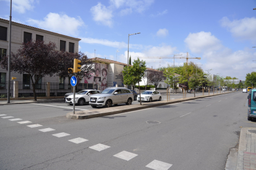
[[[34,100],[36,101],[35,85],[43,76],[53,76],[58,71],[56,59],[56,44],[44,41],[29,41],[23,43],[17,54],[11,53],[11,71],[27,73],[30,75],[33,87]],[[2,57],[1,67],[8,69],[8,56]]]

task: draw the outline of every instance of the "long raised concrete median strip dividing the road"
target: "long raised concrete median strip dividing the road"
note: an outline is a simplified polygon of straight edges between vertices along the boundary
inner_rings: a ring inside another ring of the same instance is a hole
[[[226,92],[223,94],[229,94],[231,92]],[[123,107],[118,108],[100,108],[100,109],[94,109],[94,110],[86,110],[86,111],[75,111],[75,114],[73,112],[69,112],[66,114],[66,117],[69,119],[89,119],[89,118],[96,118],[100,116],[108,116],[108,115],[114,115],[119,113],[125,113],[129,111],[135,111],[135,110],[142,110],[145,108],[151,108],[151,107],[160,107],[163,105],[169,105],[172,103],[179,103],[179,102],[186,102],[189,100],[195,100],[195,99],[202,99],[206,97],[211,97],[215,95],[222,95],[222,94],[214,94],[214,95],[206,95],[206,96],[199,96],[199,97],[190,97],[188,99],[175,99],[174,101],[167,102],[167,101],[160,101],[155,103],[143,103],[143,105],[137,104],[137,105],[126,105]]]

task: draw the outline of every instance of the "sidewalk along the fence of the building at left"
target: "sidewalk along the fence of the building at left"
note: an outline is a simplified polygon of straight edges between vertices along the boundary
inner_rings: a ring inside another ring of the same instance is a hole
[[[7,100],[0,100],[0,105],[13,105],[13,104],[24,104],[24,103],[41,103],[41,102],[63,102],[64,98],[62,99],[28,99],[28,100],[10,100],[10,103],[7,103]]]

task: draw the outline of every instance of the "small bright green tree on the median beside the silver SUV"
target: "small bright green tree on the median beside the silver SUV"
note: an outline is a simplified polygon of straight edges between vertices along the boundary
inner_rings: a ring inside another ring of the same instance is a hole
[[[124,84],[136,84],[139,83],[139,93],[140,93],[140,81],[142,81],[142,77],[144,76],[146,68],[146,62],[138,58],[132,62],[133,65],[131,67],[124,67],[124,71],[122,74],[124,76]],[[140,105],[142,105],[142,101],[140,100]]]

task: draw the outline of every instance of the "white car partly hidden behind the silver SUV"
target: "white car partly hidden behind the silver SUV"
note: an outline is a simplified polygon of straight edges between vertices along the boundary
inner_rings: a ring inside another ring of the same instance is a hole
[[[78,103],[79,105],[84,105],[85,103],[89,102],[90,96],[93,94],[99,94],[100,91],[96,90],[83,90],[75,94],[75,103]],[[69,95],[66,97],[66,103],[69,103],[70,105],[73,104],[73,97],[74,94]]]

